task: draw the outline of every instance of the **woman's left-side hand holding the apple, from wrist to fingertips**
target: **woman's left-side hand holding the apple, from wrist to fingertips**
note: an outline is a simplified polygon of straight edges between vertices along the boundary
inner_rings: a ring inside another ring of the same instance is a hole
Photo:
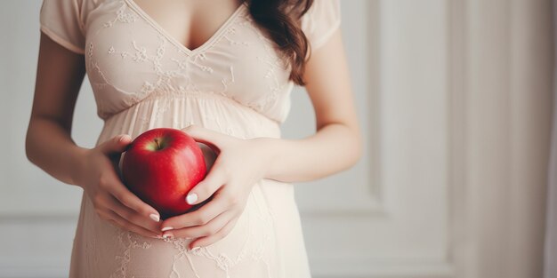
[[[118,161],[131,141],[128,135],[118,135],[86,150],[77,185],[83,187],[100,218],[136,234],[162,238],[160,214],[130,192],[118,175]]]

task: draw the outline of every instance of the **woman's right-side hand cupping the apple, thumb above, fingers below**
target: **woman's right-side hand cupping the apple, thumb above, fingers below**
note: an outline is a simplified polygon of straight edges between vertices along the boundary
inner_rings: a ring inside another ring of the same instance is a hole
[[[270,160],[265,139],[238,139],[198,125],[183,129],[218,155],[206,178],[190,190],[184,202],[210,202],[161,223],[163,237],[194,239],[190,249],[221,240],[236,225],[246,207],[252,187],[264,178]]]

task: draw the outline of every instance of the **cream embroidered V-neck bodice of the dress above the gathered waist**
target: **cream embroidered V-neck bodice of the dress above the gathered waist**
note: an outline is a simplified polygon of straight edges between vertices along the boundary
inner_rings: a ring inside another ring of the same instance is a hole
[[[161,24],[132,0],[106,1],[87,14],[87,75],[106,109],[148,97],[217,93],[272,113],[293,87],[289,69],[245,4],[197,43]]]

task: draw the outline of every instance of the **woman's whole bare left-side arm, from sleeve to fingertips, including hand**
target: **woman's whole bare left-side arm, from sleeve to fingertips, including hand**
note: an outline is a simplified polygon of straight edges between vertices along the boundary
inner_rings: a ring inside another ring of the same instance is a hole
[[[84,56],[63,48],[43,32],[40,42],[25,144],[29,161],[55,179],[82,187],[102,219],[157,237],[157,210],[141,202],[117,175],[117,158],[132,139],[117,136],[92,149],[78,147],[71,139],[77,93],[85,76]]]

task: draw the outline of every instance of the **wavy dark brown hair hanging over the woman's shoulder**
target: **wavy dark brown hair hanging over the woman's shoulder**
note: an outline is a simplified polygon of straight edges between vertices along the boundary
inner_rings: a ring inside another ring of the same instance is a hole
[[[301,18],[313,0],[246,0],[255,23],[276,44],[290,66],[290,80],[305,85],[303,70],[310,45],[303,34]]]

